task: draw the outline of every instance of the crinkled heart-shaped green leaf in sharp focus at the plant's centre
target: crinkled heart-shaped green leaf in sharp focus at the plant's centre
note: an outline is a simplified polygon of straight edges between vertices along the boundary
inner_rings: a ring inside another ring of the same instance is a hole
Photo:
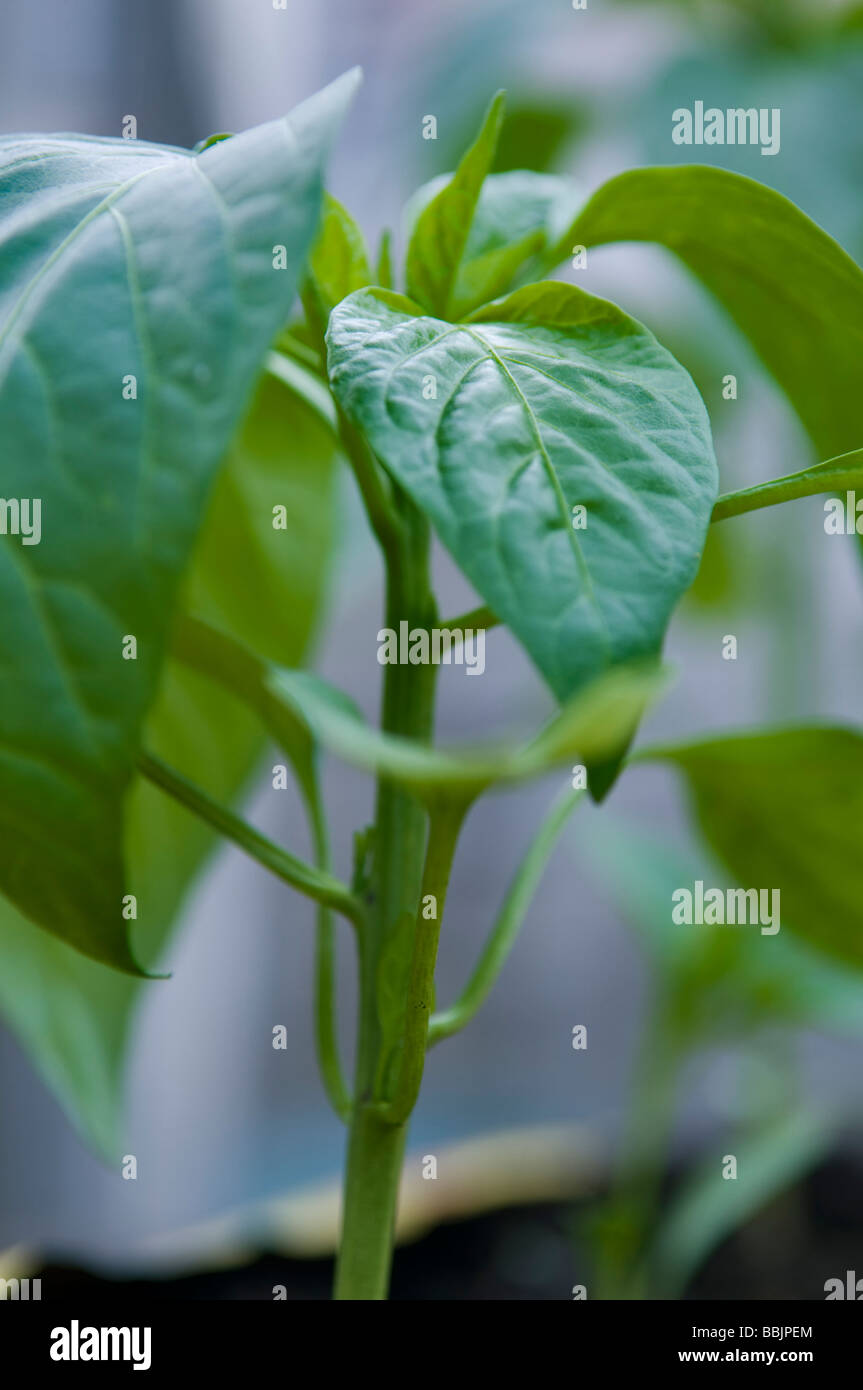
[[[345,413],[559,699],[656,657],[716,459],[700,396],[646,328],[552,281],[463,325],[361,291],[328,356]]]

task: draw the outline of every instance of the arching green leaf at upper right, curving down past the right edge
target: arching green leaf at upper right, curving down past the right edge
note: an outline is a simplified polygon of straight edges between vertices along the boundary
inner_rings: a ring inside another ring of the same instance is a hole
[[[659,242],[724,304],[823,456],[863,438],[863,271],[794,203],[755,179],[691,164],[605,183],[573,242]]]

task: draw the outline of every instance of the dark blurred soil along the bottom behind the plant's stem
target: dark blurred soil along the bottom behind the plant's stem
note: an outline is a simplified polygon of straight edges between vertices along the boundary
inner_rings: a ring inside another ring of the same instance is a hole
[[[589,1268],[571,1234],[580,1215],[571,1207],[529,1207],[441,1226],[397,1251],[392,1298],[567,1301],[574,1283],[589,1290]],[[685,1297],[823,1300],[825,1280],[845,1279],[846,1270],[863,1277],[863,1170],[857,1159],[834,1158],[724,1241]],[[46,1301],[270,1301],[275,1286],[289,1300],[325,1300],[332,1262],[264,1255],[238,1269],[168,1280],[107,1280],[51,1265],[42,1279]]]

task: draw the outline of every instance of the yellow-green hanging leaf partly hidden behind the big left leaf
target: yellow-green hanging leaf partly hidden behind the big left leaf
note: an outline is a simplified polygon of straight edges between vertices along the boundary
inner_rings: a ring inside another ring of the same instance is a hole
[[[186,602],[270,657],[300,662],[331,553],[332,436],[267,378],[222,468],[196,549]],[[288,507],[274,530],[272,507]],[[221,802],[236,801],[263,751],[238,699],[168,660],[145,742]],[[150,783],[133,785],[126,827],[135,927],[147,956],[164,944],[214,837]],[[125,1047],[142,990],[0,901],[0,1012],[89,1143],[113,1154]]]

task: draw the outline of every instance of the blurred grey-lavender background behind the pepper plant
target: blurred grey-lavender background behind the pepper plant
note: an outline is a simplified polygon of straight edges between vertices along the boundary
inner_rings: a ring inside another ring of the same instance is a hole
[[[504,86],[499,168],[561,172],[586,195],[624,168],[695,153],[771,183],[850,254],[863,253],[863,10],[827,0],[588,0],[584,11],[570,0],[290,0],[286,10],[272,0],[6,0],[0,131],[120,135],[133,114],[140,139],[189,146],[271,120],[354,64],[365,81],[331,188],[372,247],[385,227],[400,245],[406,199],[453,167]],[[696,99],[780,107],[780,154],[673,145],[671,111]],[[436,117],[436,140],[422,139],[427,114]],[[812,461],[782,396],[670,257],[645,246],[600,249],[578,282],[642,318],[693,374],[712,417],[721,491]],[[727,373],[738,378],[734,402],[721,398]],[[381,575],[347,480],[340,510],[315,666],[374,712]],[[445,613],[471,606],[445,556],[436,556],[436,574]],[[821,499],[716,527],[670,632],[677,682],[641,741],[813,719],[859,723],[862,581],[853,539],[824,534]],[[738,638],[737,662],[721,657],[727,634]],[[485,680],[466,680],[460,669],[442,677],[442,741],[491,726],[527,731],[550,710],[539,678],[500,631],[488,638]],[[447,906],[439,1001],[472,967],[554,791],[532,785],[472,812]],[[371,787],[329,766],[327,794],[338,869],[347,874]],[[292,794],[274,792],[265,773],[249,813],[303,852],[302,809]],[[707,1265],[678,1233],[674,1295],[820,1298],[827,1277],[855,1268],[863,1232],[856,981],[827,980],[835,1006],[802,1009],[792,1020],[766,1011],[743,1027],[734,972],[742,991],[748,966],[731,962],[724,983],[732,1002],[717,1027],[664,1079],[663,1097],[655,1081],[646,1091],[638,1081],[661,995],[656,923],[660,912],[667,917],[668,884],[716,872],[670,771],[636,769],[606,808],[575,816],[491,1001],[429,1056],[406,1211],[413,1234],[441,1218],[470,1219],[397,1258],[396,1295],[568,1298],[573,1284],[589,1283],[589,1198],[606,1193],[616,1148],[631,1134],[634,1084],[643,1102],[646,1095],[646,1130],[655,1115],[661,1134],[659,1207],[681,1175],[702,1162],[716,1169],[730,1136],[742,1145],[766,1134],[759,1172],[767,1176],[750,1209],[743,1202],[738,1229],[727,1213],[706,1222],[713,1234],[699,1250]],[[143,992],[135,1023],[124,1152],[138,1158],[136,1182],[82,1144],[0,1027],[0,1251],[15,1247],[18,1262],[33,1269],[47,1261],[54,1289],[89,1273],[171,1279],[164,1287],[178,1294],[271,1297],[274,1283],[288,1283],[292,1295],[317,1297],[343,1131],[313,1054],[311,912],[225,851],[193,892],[167,965],[171,980]],[[813,977],[821,969],[803,956],[794,966],[812,967]],[[286,1051],[271,1047],[278,1023],[288,1029]],[[573,1049],[577,1024],[588,1029],[585,1051]],[[421,1179],[428,1154],[439,1158],[438,1184]],[[498,1213],[481,1216],[486,1208]],[[286,1264],[285,1255],[318,1262]]]

